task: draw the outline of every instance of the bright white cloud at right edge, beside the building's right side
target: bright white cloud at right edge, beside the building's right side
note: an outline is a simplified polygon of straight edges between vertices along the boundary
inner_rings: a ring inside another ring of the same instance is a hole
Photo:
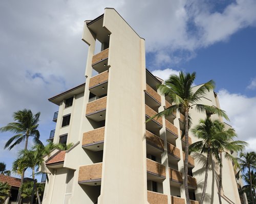
[[[248,150],[256,151],[256,97],[229,93],[222,89],[218,93],[221,109],[227,112],[231,126],[236,130],[238,139],[249,143]]]

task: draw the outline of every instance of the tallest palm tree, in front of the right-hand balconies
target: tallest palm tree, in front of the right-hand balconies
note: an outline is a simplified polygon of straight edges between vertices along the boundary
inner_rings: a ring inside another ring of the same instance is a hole
[[[168,95],[173,101],[173,105],[154,115],[146,122],[152,120],[155,117],[168,116],[177,110],[185,113],[185,161],[184,161],[184,188],[186,195],[186,203],[190,203],[188,194],[187,174],[188,174],[188,129],[189,129],[189,110],[196,107],[196,110],[204,113],[216,113],[228,119],[227,115],[221,109],[213,106],[206,106],[198,104],[200,98],[204,96],[210,90],[215,88],[215,82],[210,80],[209,82],[201,85],[196,91],[192,90],[192,85],[196,79],[196,72],[184,73],[180,72],[179,75],[170,75],[169,79],[160,85],[158,89],[163,95]]]

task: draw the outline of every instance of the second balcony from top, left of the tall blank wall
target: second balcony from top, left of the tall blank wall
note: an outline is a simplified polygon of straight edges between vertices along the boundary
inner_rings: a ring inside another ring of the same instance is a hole
[[[104,71],[90,79],[89,90],[96,96],[105,95],[108,91],[109,71]]]

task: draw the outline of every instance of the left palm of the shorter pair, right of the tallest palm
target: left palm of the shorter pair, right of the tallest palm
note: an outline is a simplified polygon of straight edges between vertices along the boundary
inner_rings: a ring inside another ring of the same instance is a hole
[[[206,163],[205,163],[205,177],[204,177],[204,186],[203,191],[200,199],[200,203],[203,204],[206,187],[207,187],[207,178],[208,178],[208,167],[209,167],[209,159],[210,156],[216,158],[218,152],[214,149],[215,138],[216,138],[216,131],[215,131],[215,124],[219,123],[219,120],[211,121],[209,117],[206,119],[200,119],[199,124],[191,129],[191,132],[194,134],[195,137],[200,139],[200,141],[195,142],[189,146],[189,152],[191,151],[198,151],[201,154],[207,154]],[[217,153],[217,154],[216,154]]]

